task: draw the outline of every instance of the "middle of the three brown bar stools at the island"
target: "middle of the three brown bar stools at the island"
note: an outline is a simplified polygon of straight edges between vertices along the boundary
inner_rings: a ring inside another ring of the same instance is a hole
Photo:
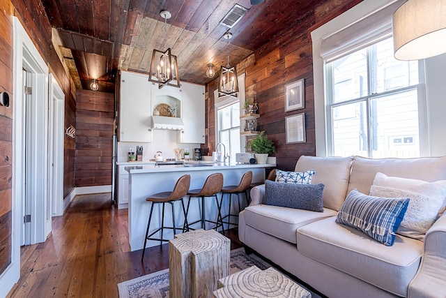
[[[208,223],[215,223],[215,230],[221,225],[222,223],[222,214],[220,214],[220,209],[218,209],[218,216],[217,221],[210,221],[206,219],[206,205],[204,198],[206,197],[214,197],[215,202],[217,202],[217,208],[220,206],[218,203],[217,193],[220,193],[222,191],[223,187],[223,174],[222,173],[215,173],[210,174],[208,178],[206,178],[206,181],[203,184],[203,187],[201,189],[194,189],[192,191],[188,191],[187,195],[189,195],[189,202],[187,202],[187,209],[186,209],[186,216],[185,219],[187,219],[187,214],[189,214],[189,205],[190,205],[190,199],[191,198],[201,198],[201,218],[198,221],[194,221],[193,223],[187,223],[185,221],[185,227],[187,227],[187,230],[195,230],[190,228],[190,225],[193,225],[194,223],[201,222],[201,228],[203,230],[206,230],[206,222]],[[200,201],[198,201],[200,204]]]

